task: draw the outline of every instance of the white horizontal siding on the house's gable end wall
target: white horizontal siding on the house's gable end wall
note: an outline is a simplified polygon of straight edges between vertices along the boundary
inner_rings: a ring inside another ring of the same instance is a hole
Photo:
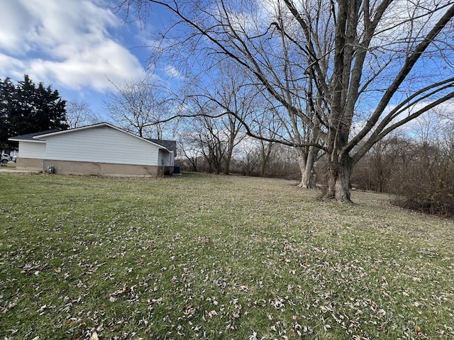
[[[45,159],[161,165],[157,145],[106,126],[50,135],[45,140]]]

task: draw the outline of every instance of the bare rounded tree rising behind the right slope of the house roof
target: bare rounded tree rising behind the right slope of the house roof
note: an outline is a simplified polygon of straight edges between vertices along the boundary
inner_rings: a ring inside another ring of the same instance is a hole
[[[168,86],[150,78],[113,85],[116,91],[110,91],[104,99],[106,113],[112,122],[140,137],[162,139],[170,124],[162,123],[171,111]]]

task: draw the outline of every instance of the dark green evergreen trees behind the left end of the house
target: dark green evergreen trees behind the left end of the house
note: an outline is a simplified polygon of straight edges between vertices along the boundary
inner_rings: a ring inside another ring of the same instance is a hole
[[[13,84],[9,77],[0,79],[0,144],[11,147],[9,137],[44,130],[65,130],[66,101],[52,86],[36,84],[24,75]]]

